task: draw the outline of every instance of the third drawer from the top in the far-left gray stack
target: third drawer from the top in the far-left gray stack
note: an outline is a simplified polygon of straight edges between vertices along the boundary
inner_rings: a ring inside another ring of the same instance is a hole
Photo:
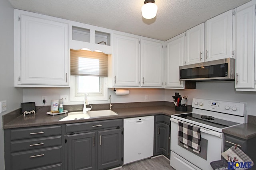
[[[11,154],[12,170],[26,170],[62,162],[62,147],[31,150]]]

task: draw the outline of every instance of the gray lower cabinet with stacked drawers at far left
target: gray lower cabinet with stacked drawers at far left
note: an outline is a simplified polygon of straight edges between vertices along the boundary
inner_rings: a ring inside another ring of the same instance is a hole
[[[62,126],[6,129],[6,170],[61,170]]]

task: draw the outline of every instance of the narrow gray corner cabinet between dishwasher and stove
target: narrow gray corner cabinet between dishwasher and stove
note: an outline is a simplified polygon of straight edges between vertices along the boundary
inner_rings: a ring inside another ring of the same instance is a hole
[[[164,154],[170,158],[170,117],[156,115],[154,133],[154,156]]]

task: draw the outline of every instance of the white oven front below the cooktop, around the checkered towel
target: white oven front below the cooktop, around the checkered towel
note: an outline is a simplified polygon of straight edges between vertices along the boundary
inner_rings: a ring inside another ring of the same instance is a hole
[[[171,118],[171,158],[170,165],[176,170],[182,170],[187,167],[188,170],[202,169],[210,170],[210,162],[220,160],[223,147],[222,133],[200,127],[201,132],[201,149],[199,154],[188,150],[178,144],[178,121]],[[184,121],[180,121],[186,123]],[[187,123],[189,124],[189,123]],[[193,125],[196,126],[196,125]]]

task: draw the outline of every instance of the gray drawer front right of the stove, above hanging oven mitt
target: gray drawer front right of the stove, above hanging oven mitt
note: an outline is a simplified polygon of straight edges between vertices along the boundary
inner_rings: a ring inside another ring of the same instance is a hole
[[[240,145],[241,146],[240,149],[244,152],[246,151],[246,141],[245,140],[238,139],[237,137],[225,135],[224,151],[234,145]]]

